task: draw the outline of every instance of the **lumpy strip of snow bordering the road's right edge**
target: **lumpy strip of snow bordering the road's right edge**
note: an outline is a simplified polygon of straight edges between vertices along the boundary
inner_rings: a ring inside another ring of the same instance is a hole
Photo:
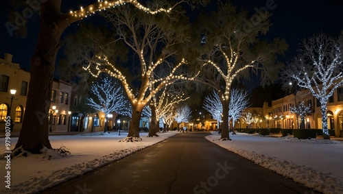
[[[300,167],[292,162],[287,162],[286,160],[279,160],[277,158],[264,156],[263,154],[257,154],[255,151],[238,149],[226,144],[227,141],[217,141],[213,139],[212,136],[206,136],[206,139],[220,147],[223,147],[224,149],[233,151],[233,153],[238,154],[239,156],[252,160],[252,162],[255,162],[261,167],[270,169],[286,178],[292,178],[295,182],[303,184],[316,191],[327,194],[343,193],[343,184],[340,180],[332,178],[329,175],[316,171],[310,167]]]

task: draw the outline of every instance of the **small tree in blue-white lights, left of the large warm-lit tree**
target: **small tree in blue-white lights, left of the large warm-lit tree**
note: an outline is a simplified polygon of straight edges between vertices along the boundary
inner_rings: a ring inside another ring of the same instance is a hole
[[[105,125],[104,132],[107,132],[108,114],[127,114],[128,101],[123,96],[123,89],[113,79],[105,77],[91,86],[91,95],[88,98],[88,105],[95,110],[104,112]]]

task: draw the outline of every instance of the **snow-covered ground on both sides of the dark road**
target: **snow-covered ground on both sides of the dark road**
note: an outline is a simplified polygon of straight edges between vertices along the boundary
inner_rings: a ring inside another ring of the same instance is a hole
[[[4,184],[6,160],[0,160],[0,193],[44,191],[48,187],[119,160],[174,134],[176,132],[168,132],[159,134],[159,137],[147,138],[147,133],[141,133],[143,141],[134,143],[119,143],[119,140],[127,136],[127,133],[123,132],[121,136],[118,136],[117,132],[106,135],[99,132],[50,136],[54,148],[63,145],[71,154],[61,157],[47,151],[45,154],[12,158],[11,189],[6,189]],[[216,132],[206,138],[312,189],[323,193],[343,193],[343,143],[340,141],[299,141],[298,138],[274,138],[240,133],[230,136],[233,141],[218,141],[220,135]],[[17,138],[11,138],[12,149],[16,141]],[[4,138],[1,138],[0,147],[5,148]]]

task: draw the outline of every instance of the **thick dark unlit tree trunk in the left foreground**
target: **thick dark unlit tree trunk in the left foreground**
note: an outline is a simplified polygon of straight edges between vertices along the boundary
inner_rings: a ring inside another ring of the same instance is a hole
[[[51,88],[60,36],[68,26],[60,16],[60,1],[41,4],[40,29],[31,59],[23,127],[14,149],[23,146],[24,150],[33,154],[39,154],[43,147],[51,149],[48,131]]]

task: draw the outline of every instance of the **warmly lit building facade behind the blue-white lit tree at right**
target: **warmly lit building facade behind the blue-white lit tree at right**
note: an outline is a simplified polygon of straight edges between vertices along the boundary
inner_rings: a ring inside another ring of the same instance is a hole
[[[292,95],[272,101],[271,121],[275,128],[299,129],[300,116],[289,111],[289,107],[303,102],[311,112],[305,117],[305,128],[322,129],[320,101],[309,90],[300,90]],[[329,130],[335,130],[335,136],[343,136],[343,86],[329,98],[327,104],[327,123]]]

